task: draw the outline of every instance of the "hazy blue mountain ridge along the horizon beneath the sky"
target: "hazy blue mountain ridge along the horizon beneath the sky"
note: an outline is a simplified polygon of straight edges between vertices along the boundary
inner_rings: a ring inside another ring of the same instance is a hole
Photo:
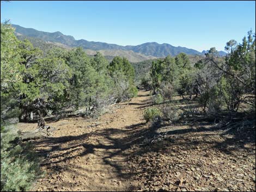
[[[19,25],[13,24],[16,33],[26,35],[33,38],[38,38],[44,41],[58,42],[69,47],[81,46],[84,49],[97,50],[123,50],[123,51],[133,51],[136,53],[141,53],[147,56],[154,57],[166,57],[167,55],[175,56],[179,53],[186,53],[191,55],[204,55],[202,52],[196,51],[194,49],[186,47],[174,47],[170,44],[158,44],[157,42],[147,42],[145,44],[136,46],[120,46],[116,44],[107,44],[106,42],[95,42],[87,41],[84,39],[75,40],[71,35],[64,35],[61,32],[41,32],[33,28],[25,28]]]

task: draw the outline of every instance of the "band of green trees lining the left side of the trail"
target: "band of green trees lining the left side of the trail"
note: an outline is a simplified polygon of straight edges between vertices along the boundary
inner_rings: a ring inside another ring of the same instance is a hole
[[[117,57],[109,65],[100,53],[88,57],[81,47],[53,46],[43,53],[29,40],[17,40],[14,29],[1,24],[1,119],[17,106],[21,112],[16,115],[27,120],[38,110],[45,115],[70,106],[100,109],[113,95],[119,101],[137,95],[127,59]]]

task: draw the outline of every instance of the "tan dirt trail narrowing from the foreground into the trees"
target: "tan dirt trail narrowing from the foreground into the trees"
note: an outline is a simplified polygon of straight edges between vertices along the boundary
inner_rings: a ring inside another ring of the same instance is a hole
[[[133,130],[145,124],[143,109],[150,104],[149,93],[139,91],[137,97],[120,103],[114,113],[98,121],[70,118],[48,123],[58,130],[52,138],[34,141],[35,150],[44,158],[46,175],[33,190],[132,190],[125,161],[132,150]],[[36,124],[19,123],[19,127],[27,131]]]

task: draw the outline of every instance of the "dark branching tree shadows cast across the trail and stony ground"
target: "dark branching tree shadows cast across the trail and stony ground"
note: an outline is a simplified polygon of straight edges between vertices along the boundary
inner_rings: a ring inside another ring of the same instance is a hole
[[[202,123],[202,125],[200,125],[200,123]],[[115,168],[117,168],[118,170],[118,174],[121,177],[125,177],[125,175],[121,174],[120,170],[121,168],[115,164],[115,162],[109,162],[108,158],[112,158],[114,156],[124,156],[124,157],[128,157],[131,156],[131,153],[126,153],[126,150],[128,150],[129,148],[131,148],[133,145],[135,144],[141,144],[141,142],[147,138],[147,139],[151,139],[154,138],[156,135],[160,135],[163,133],[159,133],[157,131],[159,131],[159,129],[161,128],[166,128],[166,127],[170,127],[172,126],[172,124],[170,123],[153,123],[151,124],[149,127],[146,127],[147,123],[137,123],[135,125],[131,125],[131,126],[126,126],[124,127],[125,129],[121,129],[121,128],[106,128],[106,129],[101,129],[99,131],[96,132],[92,132],[92,133],[86,133],[86,134],[82,134],[82,135],[78,135],[78,136],[64,136],[64,137],[58,137],[58,138],[46,138],[46,139],[42,139],[42,140],[36,140],[33,141],[35,146],[40,146],[40,148],[44,148],[44,147],[48,147],[45,149],[41,149],[41,150],[36,150],[39,153],[39,156],[41,157],[46,157],[47,154],[51,154],[51,153],[56,153],[58,152],[58,155],[52,155],[51,158],[57,158],[57,157],[62,157],[59,160],[55,160],[55,161],[51,161],[51,162],[47,162],[44,163],[44,165],[51,165],[52,164],[58,164],[60,162],[65,162],[68,159],[72,159],[72,158],[76,158],[77,156],[86,156],[89,153],[94,153],[94,151],[96,149],[104,149],[104,150],[117,150],[115,152],[109,152],[109,155],[106,156],[105,158],[105,163],[109,164]],[[184,126],[184,124],[180,123],[179,126],[174,126],[173,130],[171,131],[166,131],[164,132],[168,137],[172,137],[175,136],[175,141],[174,143],[179,142],[179,140],[182,139],[182,135],[186,135],[186,134],[194,134],[193,135],[193,139],[186,139],[186,141],[184,141],[184,143],[182,144],[186,144],[186,146],[190,146],[189,148],[191,148],[191,146],[199,144],[199,143],[210,143],[210,144],[214,144],[212,145],[212,147],[217,148],[218,150],[224,152],[224,153],[228,153],[230,154],[231,151],[228,150],[235,150],[238,148],[242,148],[245,149],[244,144],[247,143],[254,143],[255,144],[255,129],[254,131],[251,129],[248,129],[248,133],[241,138],[241,133],[237,133],[234,134],[233,138],[228,138],[225,139],[223,142],[218,143],[217,141],[202,141],[202,139],[200,139],[199,141],[195,141],[198,136],[196,133],[204,133],[201,134],[200,137],[205,137],[207,138],[209,133],[214,133],[214,132],[218,132],[223,130],[223,128],[219,128],[219,127],[215,127],[212,122],[198,122],[198,125],[194,125],[194,127],[191,128],[179,128],[180,126]],[[210,127],[206,127],[206,126],[210,126]],[[126,137],[123,138],[113,138],[111,137],[111,135],[114,134],[126,134]],[[219,133],[216,133],[219,134]],[[181,136],[179,136],[181,135]],[[224,133],[223,133],[224,135]],[[111,143],[111,145],[105,145],[105,144],[87,144],[87,140],[90,137],[101,137],[101,138],[105,138],[109,141],[109,143]],[[249,139],[248,139],[249,138]],[[68,145],[67,147],[61,147],[62,144]],[[181,144],[181,143],[180,143]],[[173,145],[172,142],[170,142],[170,145]],[[227,149],[228,145],[233,145],[235,147],[233,148],[229,148]],[[83,151],[80,152],[79,154],[76,154],[75,156],[72,155],[72,153],[74,153],[75,151],[81,151],[81,147],[83,148]],[[143,153],[144,148],[139,148],[138,153]],[[135,173],[134,173],[135,174]],[[129,175],[130,176],[130,175]]]

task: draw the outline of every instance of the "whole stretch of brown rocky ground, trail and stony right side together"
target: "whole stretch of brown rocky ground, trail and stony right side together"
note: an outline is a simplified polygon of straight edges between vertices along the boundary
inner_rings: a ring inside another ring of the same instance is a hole
[[[98,120],[67,118],[34,140],[43,178],[33,191],[255,191],[255,129],[145,123],[149,91]],[[22,131],[36,123],[19,123]]]

